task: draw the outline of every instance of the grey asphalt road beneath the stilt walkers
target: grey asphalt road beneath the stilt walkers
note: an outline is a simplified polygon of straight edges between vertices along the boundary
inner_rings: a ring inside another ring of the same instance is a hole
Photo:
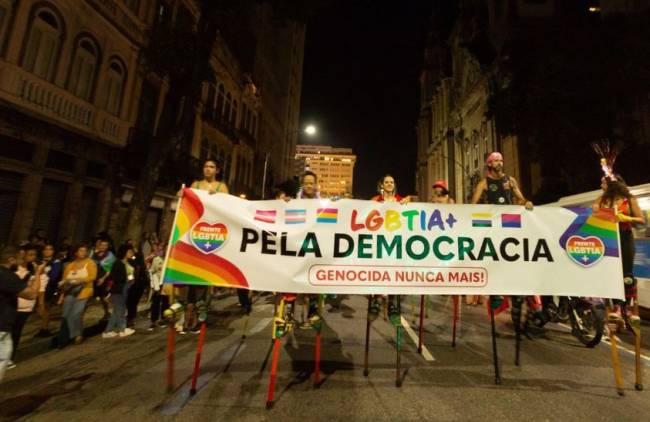
[[[608,344],[587,349],[566,327],[547,325],[522,344],[514,366],[509,316],[497,318],[503,382],[494,384],[485,307],[462,306],[451,347],[451,300],[431,300],[422,354],[417,316],[404,299],[407,324],[401,388],[395,386],[395,330],[383,319],[371,327],[370,372],[363,376],[367,301],[346,297],[326,306],[320,388],[313,387],[315,334],[297,329],[283,339],[276,404],[267,410],[271,367],[269,297],[259,297],[242,340],[243,312],[229,296],[213,304],[196,395],[189,395],[197,335],[177,336],[175,390],[165,389],[166,331],[147,321],[128,338],[88,339],[80,346],[32,353],[0,384],[0,418],[34,421],[99,420],[645,420],[647,391],[634,390],[633,354],[621,351],[625,396],[614,388]],[[647,333],[644,326],[644,334]],[[647,339],[647,335],[644,337]],[[623,346],[632,349],[624,334]],[[27,347],[27,346],[26,346]],[[33,346],[36,347],[36,346]],[[644,347],[645,356],[650,356]],[[644,358],[644,367],[650,358]]]

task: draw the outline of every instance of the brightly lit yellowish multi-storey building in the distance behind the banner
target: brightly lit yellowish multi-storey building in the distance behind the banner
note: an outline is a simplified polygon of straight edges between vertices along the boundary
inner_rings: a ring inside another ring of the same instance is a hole
[[[326,145],[298,145],[295,156],[295,175],[306,170],[316,173],[323,197],[352,197],[354,164],[357,156],[351,148]]]

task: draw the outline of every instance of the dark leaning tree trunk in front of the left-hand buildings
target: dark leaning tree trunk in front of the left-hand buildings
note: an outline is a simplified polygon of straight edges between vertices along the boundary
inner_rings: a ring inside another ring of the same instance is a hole
[[[140,157],[143,166],[129,204],[125,238],[140,238],[163,165],[173,154],[189,148],[203,83],[212,78],[210,58],[219,27],[252,1],[197,3],[200,17],[196,25],[178,18],[172,22],[162,16],[142,52],[144,70],[166,81],[168,89],[157,130],[145,149],[145,157]]]

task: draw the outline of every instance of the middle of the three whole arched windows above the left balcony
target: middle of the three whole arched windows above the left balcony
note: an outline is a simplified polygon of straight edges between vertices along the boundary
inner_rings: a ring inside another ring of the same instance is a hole
[[[68,91],[86,101],[90,100],[99,64],[99,47],[89,37],[80,37],[75,45]]]

